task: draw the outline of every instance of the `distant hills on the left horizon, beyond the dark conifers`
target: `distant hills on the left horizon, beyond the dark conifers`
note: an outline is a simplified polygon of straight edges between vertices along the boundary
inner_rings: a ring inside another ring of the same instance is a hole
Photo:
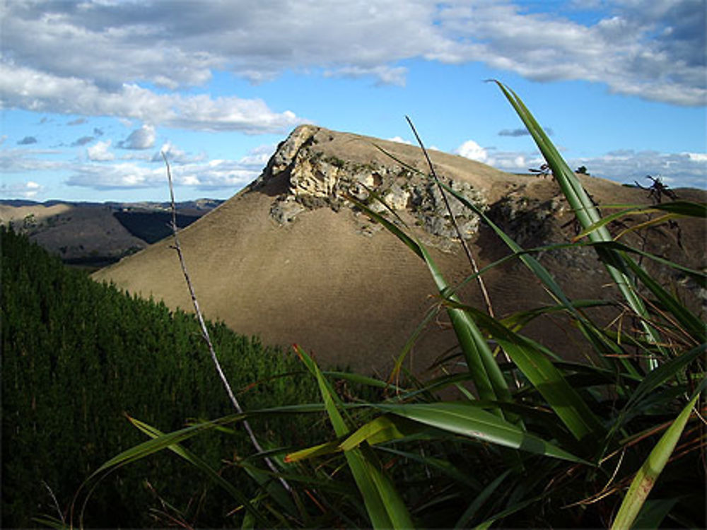
[[[222,201],[199,199],[177,206],[185,227]],[[168,203],[0,201],[0,224],[15,230],[69,264],[100,267],[169,235]]]

